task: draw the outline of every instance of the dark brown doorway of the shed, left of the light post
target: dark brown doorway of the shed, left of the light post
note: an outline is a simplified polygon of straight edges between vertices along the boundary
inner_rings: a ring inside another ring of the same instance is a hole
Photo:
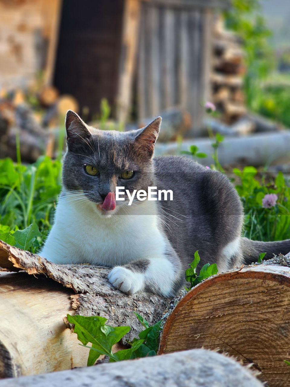
[[[54,84],[89,107],[90,117],[102,98],[115,105],[123,6],[123,0],[63,0]]]

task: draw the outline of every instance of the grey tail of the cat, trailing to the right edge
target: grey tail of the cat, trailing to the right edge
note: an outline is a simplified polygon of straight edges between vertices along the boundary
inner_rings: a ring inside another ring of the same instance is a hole
[[[290,239],[278,242],[259,242],[241,238],[241,250],[244,263],[250,265],[258,261],[260,253],[267,253],[264,259],[273,258],[273,254],[287,254],[290,252]]]

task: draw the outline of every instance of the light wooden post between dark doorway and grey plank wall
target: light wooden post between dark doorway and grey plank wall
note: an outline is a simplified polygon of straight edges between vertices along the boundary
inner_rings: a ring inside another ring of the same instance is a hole
[[[124,124],[131,103],[136,46],[140,22],[140,0],[126,0],[123,15],[123,34],[119,64],[119,82],[116,100],[116,118]]]

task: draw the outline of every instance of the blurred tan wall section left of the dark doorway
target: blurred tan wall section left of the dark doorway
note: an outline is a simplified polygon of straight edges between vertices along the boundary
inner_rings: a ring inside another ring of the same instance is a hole
[[[61,0],[0,0],[0,89],[49,82]]]

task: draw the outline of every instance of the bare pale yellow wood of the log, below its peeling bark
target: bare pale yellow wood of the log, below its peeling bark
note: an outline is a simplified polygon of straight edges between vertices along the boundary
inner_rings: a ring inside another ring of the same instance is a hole
[[[72,289],[26,273],[0,274],[0,378],[85,366],[88,353],[63,317]]]

